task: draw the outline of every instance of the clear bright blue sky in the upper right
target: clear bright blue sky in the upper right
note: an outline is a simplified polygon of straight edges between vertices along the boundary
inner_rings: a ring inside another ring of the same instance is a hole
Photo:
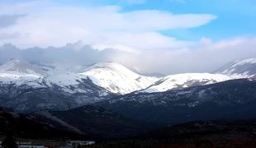
[[[61,1],[64,2],[64,1]],[[107,0],[65,1],[67,5],[118,5],[122,12],[163,10],[175,14],[213,14],[218,18],[207,25],[189,30],[164,30],[161,33],[179,39],[196,40],[201,36],[213,40],[256,34],[256,1],[254,0]]]

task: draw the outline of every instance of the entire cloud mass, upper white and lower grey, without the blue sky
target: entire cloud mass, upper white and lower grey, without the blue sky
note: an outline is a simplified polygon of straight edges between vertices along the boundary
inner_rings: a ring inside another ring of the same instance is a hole
[[[0,62],[9,58],[70,65],[120,62],[144,73],[173,74],[212,72],[232,60],[256,56],[255,37],[213,42],[161,33],[209,24],[217,19],[212,14],[126,12],[120,6],[67,6],[52,1],[4,3],[0,10],[0,44],[5,44]]]

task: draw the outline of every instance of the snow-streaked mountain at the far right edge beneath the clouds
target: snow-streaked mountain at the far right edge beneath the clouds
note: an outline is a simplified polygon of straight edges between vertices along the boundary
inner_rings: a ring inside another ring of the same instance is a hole
[[[215,73],[231,76],[232,78],[255,78],[256,58],[230,62]]]

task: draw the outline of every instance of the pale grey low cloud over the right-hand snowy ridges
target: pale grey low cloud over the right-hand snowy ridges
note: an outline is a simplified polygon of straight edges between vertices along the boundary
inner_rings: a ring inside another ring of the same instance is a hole
[[[112,61],[140,70],[175,74],[183,72],[215,72],[226,63],[256,57],[256,37],[237,37],[217,42],[202,38],[186,49],[147,50],[139,54],[116,54]]]

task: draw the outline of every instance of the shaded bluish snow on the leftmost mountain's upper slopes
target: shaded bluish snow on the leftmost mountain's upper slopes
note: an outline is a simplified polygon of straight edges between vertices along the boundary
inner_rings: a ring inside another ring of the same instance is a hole
[[[50,68],[17,59],[13,59],[0,67],[0,81],[6,84],[14,83],[16,86],[26,84],[26,86],[38,88],[56,85],[65,92],[83,93],[84,90],[76,87],[82,78],[78,73],[69,72],[69,69],[65,67]],[[43,84],[42,81],[45,83]],[[70,86],[74,86],[73,89]]]

